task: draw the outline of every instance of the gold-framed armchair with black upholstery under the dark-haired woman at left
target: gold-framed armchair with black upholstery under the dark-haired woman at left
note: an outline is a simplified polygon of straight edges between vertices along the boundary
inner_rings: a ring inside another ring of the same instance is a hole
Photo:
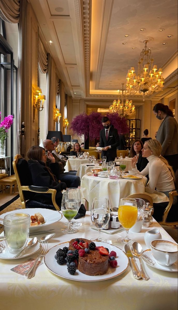
[[[31,202],[34,204],[35,202],[33,201],[34,193],[35,194],[43,193],[43,194],[51,194],[53,206],[55,207],[57,211],[60,210],[55,200],[56,193],[57,193],[56,189],[43,187],[43,186],[39,187],[39,186],[31,185],[32,177],[31,177],[31,173],[28,167],[28,163],[20,154],[16,154],[12,165],[13,165],[14,173],[16,176],[16,182],[17,182],[18,189],[19,189],[22,209],[26,208],[27,203],[30,204]],[[51,205],[45,205],[37,201],[36,203],[38,204],[39,208],[45,207],[48,209],[48,206],[51,207]]]

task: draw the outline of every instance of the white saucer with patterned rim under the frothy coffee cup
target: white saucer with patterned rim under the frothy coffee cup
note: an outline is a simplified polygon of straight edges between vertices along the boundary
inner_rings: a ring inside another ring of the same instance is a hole
[[[151,267],[154,267],[154,268],[157,268],[160,270],[164,270],[164,271],[172,271],[172,272],[178,271],[178,266],[177,266],[178,261],[176,261],[176,263],[173,263],[172,266],[162,266],[153,257],[153,254],[152,254],[150,249],[143,251],[141,254],[141,257],[145,261],[145,263],[147,263]]]

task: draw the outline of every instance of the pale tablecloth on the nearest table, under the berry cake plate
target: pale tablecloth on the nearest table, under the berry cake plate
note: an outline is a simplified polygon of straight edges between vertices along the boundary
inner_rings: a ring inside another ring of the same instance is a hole
[[[62,218],[61,221],[48,226],[49,229],[56,228],[56,236],[49,241],[48,249],[72,238],[91,239],[97,236],[97,231],[89,227],[91,225],[89,212],[80,219],[82,225],[78,228],[78,233],[74,235],[66,235],[61,232],[64,222],[66,219]],[[142,228],[140,233],[129,232],[129,235],[142,245],[143,250],[146,250],[144,233],[152,228],[159,228],[163,239],[173,241],[157,222],[154,222],[150,228]],[[124,236],[125,231],[112,235],[102,234],[112,244],[124,250],[124,246],[117,243],[117,238]],[[43,235],[44,233],[37,237]],[[34,254],[30,257],[36,258],[37,255]],[[31,279],[26,279],[25,276],[10,271],[11,268],[27,259],[27,257],[16,260],[0,259],[1,310],[91,310],[92,308],[102,310],[111,308],[116,310],[177,310],[177,272],[158,270],[144,263],[150,277],[148,281],[136,280],[129,266],[120,276],[110,280],[79,282],[54,275],[44,263],[37,268],[35,277]]]

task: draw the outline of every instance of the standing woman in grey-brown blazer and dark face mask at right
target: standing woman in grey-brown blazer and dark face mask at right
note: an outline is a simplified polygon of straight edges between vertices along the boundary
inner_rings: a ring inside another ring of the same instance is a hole
[[[178,167],[177,121],[167,105],[155,104],[153,113],[159,120],[163,120],[157,131],[156,139],[162,145],[161,155],[167,159],[176,172]]]

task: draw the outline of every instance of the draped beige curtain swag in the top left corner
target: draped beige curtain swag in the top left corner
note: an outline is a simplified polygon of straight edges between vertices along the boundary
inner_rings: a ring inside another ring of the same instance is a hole
[[[20,0],[0,0],[0,17],[4,21],[16,24],[19,22],[19,14]]]

